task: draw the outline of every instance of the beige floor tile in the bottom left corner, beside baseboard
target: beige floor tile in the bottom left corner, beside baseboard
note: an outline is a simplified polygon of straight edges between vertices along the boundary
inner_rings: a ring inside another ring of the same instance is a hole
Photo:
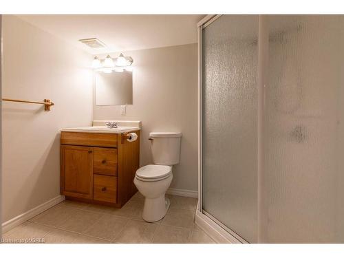
[[[9,243],[34,243],[35,239],[43,239],[51,230],[53,230],[53,228],[48,226],[32,222],[24,222],[16,228],[8,231],[8,233],[5,233],[3,235],[3,239],[6,239],[6,242],[9,241]]]

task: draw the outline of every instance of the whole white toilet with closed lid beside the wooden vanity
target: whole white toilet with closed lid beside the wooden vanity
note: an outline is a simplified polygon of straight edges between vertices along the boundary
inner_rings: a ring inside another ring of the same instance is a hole
[[[138,169],[133,180],[144,196],[142,218],[146,222],[157,222],[169,209],[165,193],[173,178],[172,166],[180,161],[181,138],[182,133],[149,133],[154,164]]]

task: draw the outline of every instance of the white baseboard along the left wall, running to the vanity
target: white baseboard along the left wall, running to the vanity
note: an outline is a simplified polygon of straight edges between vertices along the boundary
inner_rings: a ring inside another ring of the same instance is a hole
[[[2,233],[6,233],[8,230],[11,230],[12,228],[19,226],[23,222],[26,222],[29,219],[32,219],[32,217],[39,215],[39,213],[43,213],[43,211],[46,211],[48,208],[52,208],[52,206],[63,202],[65,200],[65,196],[58,195],[51,200],[36,206],[35,208],[32,208],[30,211],[27,211],[25,213],[22,213],[21,215],[18,215],[17,217],[14,217],[13,219],[8,220],[7,222],[3,222],[2,224]]]

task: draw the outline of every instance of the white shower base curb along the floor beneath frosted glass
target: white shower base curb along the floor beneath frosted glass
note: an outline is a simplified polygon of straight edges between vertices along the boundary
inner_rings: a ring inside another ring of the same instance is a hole
[[[199,226],[209,237],[211,237],[216,243],[221,244],[239,244],[238,239],[230,235],[226,230],[217,225],[213,220],[200,212],[197,206],[195,215],[195,224]]]

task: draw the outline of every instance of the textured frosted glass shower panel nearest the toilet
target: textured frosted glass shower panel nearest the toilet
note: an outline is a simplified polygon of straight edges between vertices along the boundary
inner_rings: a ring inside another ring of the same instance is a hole
[[[258,15],[202,28],[202,207],[257,241]],[[235,235],[235,234],[234,234]]]

